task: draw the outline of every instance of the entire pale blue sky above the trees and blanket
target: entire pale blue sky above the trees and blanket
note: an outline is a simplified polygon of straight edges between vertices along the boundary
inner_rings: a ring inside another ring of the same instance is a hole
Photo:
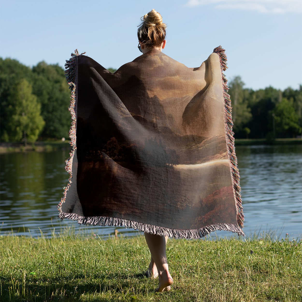
[[[186,66],[222,45],[228,79],[252,89],[302,83],[301,0],[0,0],[0,55],[63,67],[77,48],[118,68],[140,55],[137,25],[153,8],[168,26],[164,53]]]

